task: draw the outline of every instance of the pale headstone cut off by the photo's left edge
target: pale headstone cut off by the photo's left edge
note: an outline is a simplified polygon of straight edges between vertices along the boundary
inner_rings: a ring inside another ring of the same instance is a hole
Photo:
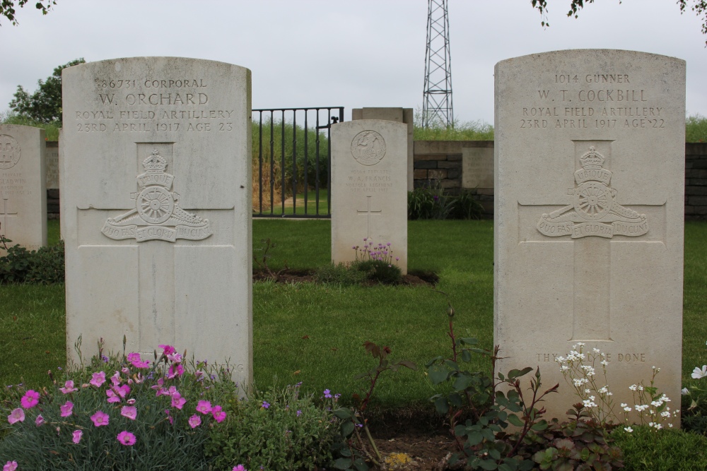
[[[0,124],[0,234],[8,246],[47,245],[46,193],[44,129]]]

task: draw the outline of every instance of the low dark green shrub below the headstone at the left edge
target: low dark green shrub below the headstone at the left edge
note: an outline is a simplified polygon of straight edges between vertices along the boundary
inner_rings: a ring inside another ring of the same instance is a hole
[[[29,251],[20,245],[8,246],[0,257],[0,284],[64,282],[64,241]]]

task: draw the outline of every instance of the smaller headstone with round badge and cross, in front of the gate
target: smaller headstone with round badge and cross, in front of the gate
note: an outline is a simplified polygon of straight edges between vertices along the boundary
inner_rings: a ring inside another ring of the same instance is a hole
[[[332,261],[354,261],[363,239],[391,244],[407,273],[407,124],[332,126]]]

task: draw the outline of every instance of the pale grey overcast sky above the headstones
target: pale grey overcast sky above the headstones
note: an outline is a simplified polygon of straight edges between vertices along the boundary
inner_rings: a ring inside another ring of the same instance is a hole
[[[426,0],[59,0],[30,4],[0,28],[0,111],[17,85],[72,59],[185,56],[252,70],[252,105],[421,107]],[[455,117],[493,124],[493,66],[556,49],[631,49],[687,61],[688,114],[707,115],[707,49],[694,13],[674,0],[602,0],[578,19],[549,1],[449,0]]]

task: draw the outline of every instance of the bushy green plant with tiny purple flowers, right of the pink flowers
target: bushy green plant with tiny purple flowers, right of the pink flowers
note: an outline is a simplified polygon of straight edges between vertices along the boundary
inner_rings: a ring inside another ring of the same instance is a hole
[[[316,470],[328,465],[337,436],[332,398],[325,390],[324,406],[312,395],[300,394],[299,384],[283,390],[255,393],[226,410],[226,427],[214,429],[206,456],[216,470],[242,464],[248,470]]]

